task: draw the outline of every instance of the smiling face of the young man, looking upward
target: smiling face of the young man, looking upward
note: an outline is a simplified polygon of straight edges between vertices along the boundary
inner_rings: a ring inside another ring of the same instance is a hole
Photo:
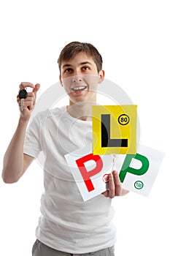
[[[74,59],[61,63],[61,85],[69,95],[69,104],[96,102],[98,83],[104,80],[104,71],[98,72],[95,62],[86,53],[77,53]]]

